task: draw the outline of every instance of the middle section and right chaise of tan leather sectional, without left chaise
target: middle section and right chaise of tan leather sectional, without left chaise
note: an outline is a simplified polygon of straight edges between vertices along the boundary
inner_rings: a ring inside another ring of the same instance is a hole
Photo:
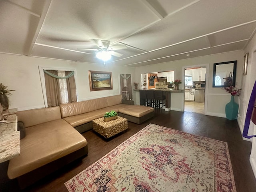
[[[115,110],[118,116],[141,124],[154,116],[154,108],[123,104],[122,95],[103,97],[82,102],[61,104],[61,116],[79,132],[92,129],[92,120],[103,117],[106,112]],[[128,103],[128,102],[126,102]]]

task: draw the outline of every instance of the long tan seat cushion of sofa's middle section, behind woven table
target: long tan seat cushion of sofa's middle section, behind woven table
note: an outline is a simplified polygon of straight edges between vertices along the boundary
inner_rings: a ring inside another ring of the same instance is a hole
[[[68,122],[70,125],[73,127],[80,126],[82,124],[91,122],[94,119],[98,119],[104,116],[106,112],[109,111],[116,111],[118,112],[117,106],[111,106],[111,107],[106,107],[103,109],[98,109],[95,111],[91,111],[88,113],[80,114],[80,115],[75,115],[75,116],[70,116],[70,117],[65,117],[63,118],[66,122]]]

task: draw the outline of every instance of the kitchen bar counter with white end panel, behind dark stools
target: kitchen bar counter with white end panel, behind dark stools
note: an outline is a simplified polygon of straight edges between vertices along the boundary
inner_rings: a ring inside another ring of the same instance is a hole
[[[171,88],[156,88],[153,90],[162,90],[165,93],[166,97],[166,106],[165,111],[184,111],[184,90],[174,90]],[[134,89],[137,98],[140,98],[139,89]],[[139,99],[138,99],[139,100]]]

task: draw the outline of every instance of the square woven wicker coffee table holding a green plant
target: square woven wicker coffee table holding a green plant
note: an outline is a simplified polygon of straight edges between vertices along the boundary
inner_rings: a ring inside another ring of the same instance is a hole
[[[128,122],[126,118],[119,117],[112,121],[104,121],[104,117],[92,120],[93,130],[105,138],[110,138],[126,129]]]

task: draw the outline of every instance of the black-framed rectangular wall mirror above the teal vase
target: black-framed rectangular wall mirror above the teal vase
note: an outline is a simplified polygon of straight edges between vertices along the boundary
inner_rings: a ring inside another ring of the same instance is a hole
[[[212,87],[235,86],[236,62],[237,61],[228,61],[213,64]]]

